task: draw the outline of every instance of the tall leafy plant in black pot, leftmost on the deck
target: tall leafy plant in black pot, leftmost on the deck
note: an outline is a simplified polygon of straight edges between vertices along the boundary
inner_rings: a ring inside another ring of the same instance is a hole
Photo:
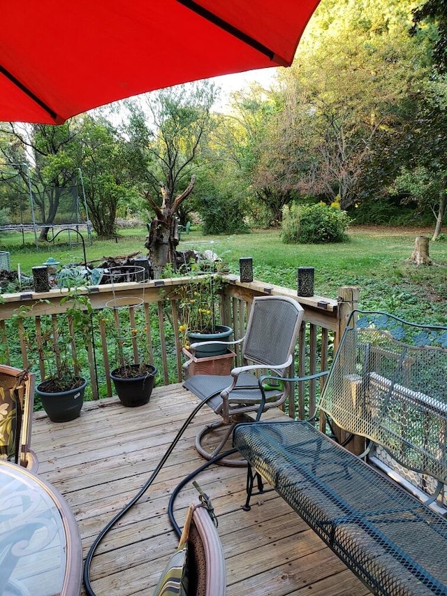
[[[49,303],[48,300],[39,300]],[[91,346],[91,307],[88,296],[76,289],[61,298],[64,313],[54,319],[42,321],[41,344],[43,369],[50,371],[36,387],[45,412],[52,422],[68,422],[80,416],[87,380],[79,374],[78,346]],[[50,356],[51,354],[51,356]]]

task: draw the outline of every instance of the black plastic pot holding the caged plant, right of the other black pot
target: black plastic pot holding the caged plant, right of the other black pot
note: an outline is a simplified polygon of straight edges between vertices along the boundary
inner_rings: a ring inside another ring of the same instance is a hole
[[[124,367],[126,370],[138,370],[140,365],[131,364]],[[152,365],[145,366],[146,371],[144,375],[138,377],[123,377],[123,368],[115,368],[110,372],[110,379],[115,385],[115,391],[119,397],[122,405],[126,407],[137,407],[147,404],[154,388],[154,377],[156,375],[156,368]]]

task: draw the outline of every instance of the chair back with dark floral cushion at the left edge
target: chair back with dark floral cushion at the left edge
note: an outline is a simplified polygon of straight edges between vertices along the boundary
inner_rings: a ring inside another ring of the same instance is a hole
[[[0,365],[0,453],[14,463],[29,465],[34,410],[34,374]]]

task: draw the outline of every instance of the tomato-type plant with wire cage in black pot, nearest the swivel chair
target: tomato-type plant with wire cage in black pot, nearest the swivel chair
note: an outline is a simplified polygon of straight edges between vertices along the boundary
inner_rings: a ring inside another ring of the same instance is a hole
[[[139,306],[112,307],[112,316],[105,315],[110,335],[115,340],[115,361],[110,372],[115,391],[126,407],[147,404],[154,388],[156,368],[149,360],[149,337],[145,313]],[[131,317],[126,315],[131,313]]]

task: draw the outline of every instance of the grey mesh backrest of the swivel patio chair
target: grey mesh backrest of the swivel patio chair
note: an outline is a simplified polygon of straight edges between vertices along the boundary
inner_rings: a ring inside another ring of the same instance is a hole
[[[293,355],[304,309],[286,296],[257,296],[253,299],[242,356],[269,367],[286,363]],[[286,375],[286,370],[278,374]]]

